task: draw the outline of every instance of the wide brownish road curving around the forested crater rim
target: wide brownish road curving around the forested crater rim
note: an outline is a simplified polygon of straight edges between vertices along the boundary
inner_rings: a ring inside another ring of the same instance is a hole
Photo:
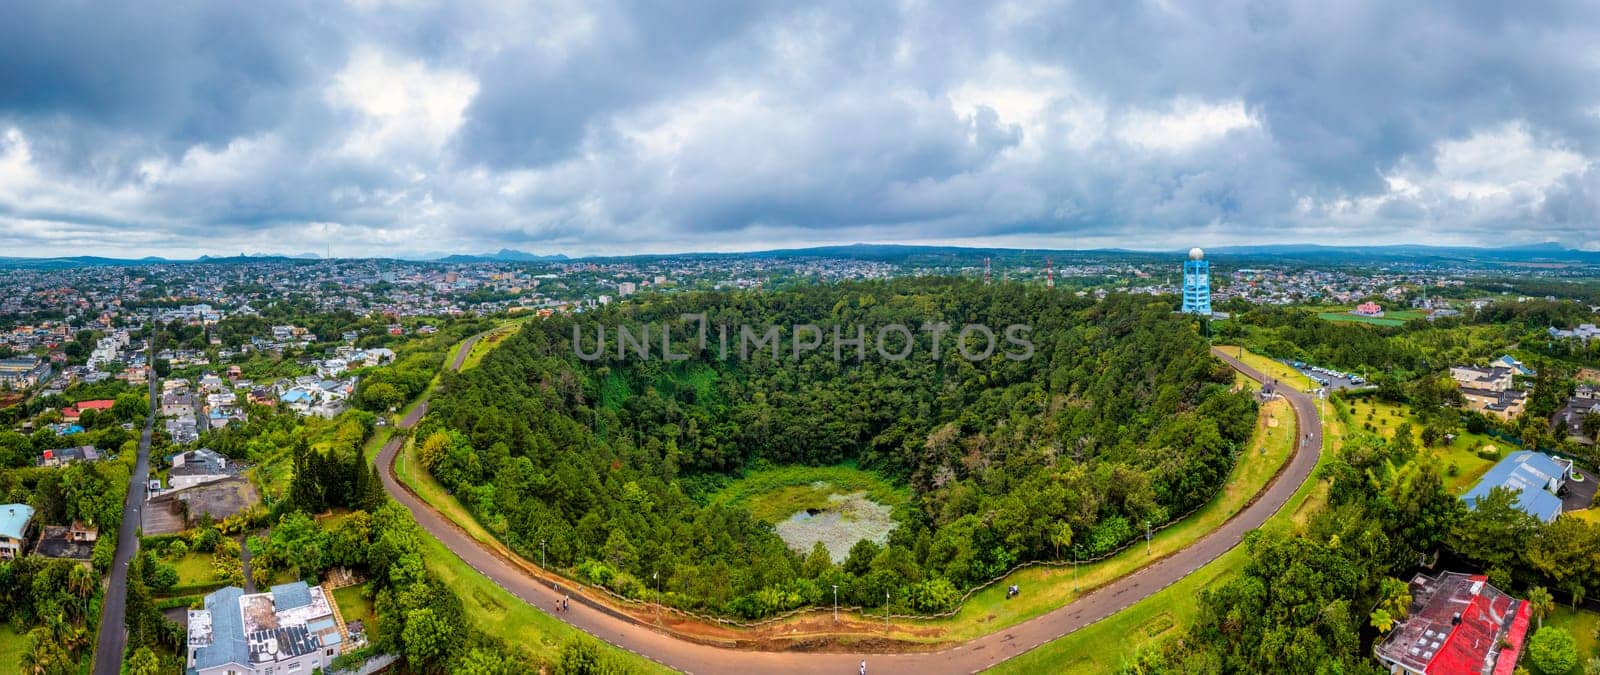
[[[478,338],[461,345],[451,368],[459,369],[467,352]],[[1213,353],[1234,369],[1262,384],[1270,377],[1240,363],[1238,360],[1213,349]],[[557,619],[573,627],[605,640],[618,648],[629,649],[667,667],[690,673],[752,673],[752,672],[786,672],[786,673],[853,673],[861,659],[869,662],[874,673],[970,673],[989,669],[1002,661],[1034,649],[1096,621],[1106,619],[1123,608],[1144,600],[1157,590],[1200,569],[1211,560],[1234,549],[1245,533],[1259,528],[1272,513],[1288,502],[1290,496],[1299,489],[1317,459],[1322,454],[1322,424],[1315,401],[1288,387],[1280,392],[1294,408],[1296,422],[1301,432],[1299,445],[1288,467],[1272,480],[1254,502],[1246,505],[1222,526],[1213,529],[1197,542],[1173,555],[1150,563],[1139,571],[1123,576],[1102,585],[1082,598],[1038,616],[1027,622],[1003,629],[1000,632],[962,643],[936,653],[906,654],[862,654],[862,653],[797,653],[797,651],[741,651],[718,646],[707,646],[678,640],[650,625],[635,624],[595,609],[587,598],[573,595],[581,606],[573,611],[554,614]],[[421,403],[400,422],[408,429],[427,413],[427,403]],[[1310,430],[1309,433],[1306,430]],[[453,525],[416,494],[395,480],[394,459],[403,438],[392,438],[378,454],[378,462],[384,467],[384,489],[390,497],[403,504],[416,517],[416,521],[429,534],[445,544],[446,549],[461,557],[467,565],[493,579],[502,589],[517,595],[523,601],[547,611],[562,595],[530,577],[518,566],[498,557],[478,541],[472,539],[461,528]]]

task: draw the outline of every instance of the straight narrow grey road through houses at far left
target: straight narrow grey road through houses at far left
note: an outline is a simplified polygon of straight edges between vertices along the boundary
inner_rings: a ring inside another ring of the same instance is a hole
[[[154,339],[152,339],[154,344]],[[154,363],[155,350],[149,349],[146,363]],[[110,565],[110,585],[106,587],[106,605],[101,608],[99,641],[94,643],[94,675],[122,672],[122,656],[128,649],[128,627],[123,614],[128,609],[128,561],[139,552],[139,512],[144,507],[146,481],[150,475],[150,430],[155,425],[157,377],[150,373],[150,414],[139,435],[139,456],[128,477],[128,497],[122,507],[122,528],[117,529],[117,557]]]

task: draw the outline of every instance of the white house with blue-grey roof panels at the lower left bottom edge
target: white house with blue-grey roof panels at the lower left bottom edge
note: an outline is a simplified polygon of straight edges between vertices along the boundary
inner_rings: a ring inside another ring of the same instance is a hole
[[[189,611],[189,675],[304,675],[328,669],[344,635],[320,587],[304,581],[245,593],[230,585]]]

